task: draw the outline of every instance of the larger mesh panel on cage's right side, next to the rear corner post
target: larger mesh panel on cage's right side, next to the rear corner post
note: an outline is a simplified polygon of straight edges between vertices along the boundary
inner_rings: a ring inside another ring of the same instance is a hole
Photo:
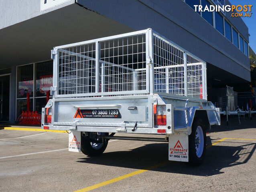
[[[154,34],[154,90],[183,95],[183,51]]]

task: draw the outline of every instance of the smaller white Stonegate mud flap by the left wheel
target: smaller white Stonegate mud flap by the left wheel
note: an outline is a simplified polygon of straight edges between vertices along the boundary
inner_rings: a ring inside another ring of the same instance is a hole
[[[69,134],[69,151],[80,152],[81,151],[81,132],[72,131]]]

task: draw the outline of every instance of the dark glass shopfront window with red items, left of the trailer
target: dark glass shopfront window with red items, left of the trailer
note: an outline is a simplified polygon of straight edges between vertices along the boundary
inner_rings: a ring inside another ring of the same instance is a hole
[[[30,111],[41,114],[46,105],[47,92],[53,86],[53,61],[17,67],[17,119],[27,111],[26,94],[30,97]]]

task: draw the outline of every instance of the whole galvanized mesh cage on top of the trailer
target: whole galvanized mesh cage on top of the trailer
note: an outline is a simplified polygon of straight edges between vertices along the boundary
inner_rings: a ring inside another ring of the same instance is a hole
[[[56,97],[167,93],[206,99],[205,63],[151,29],[55,50]]]

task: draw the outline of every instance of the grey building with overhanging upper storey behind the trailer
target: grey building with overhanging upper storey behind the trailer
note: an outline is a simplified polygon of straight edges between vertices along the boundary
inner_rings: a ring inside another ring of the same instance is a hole
[[[250,81],[248,27],[230,12],[195,12],[213,0],[0,1],[0,121],[41,112],[53,78],[51,49],[146,28],[207,62],[208,87]],[[225,0],[225,4],[230,4]]]

